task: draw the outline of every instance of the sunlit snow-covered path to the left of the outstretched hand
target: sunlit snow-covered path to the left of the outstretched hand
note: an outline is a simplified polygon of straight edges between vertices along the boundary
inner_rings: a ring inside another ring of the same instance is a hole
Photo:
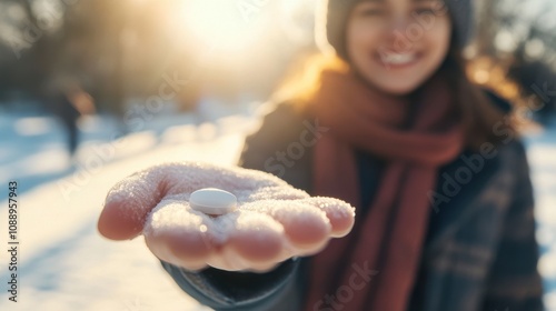
[[[187,118],[182,121],[188,122]],[[185,295],[168,278],[142,237],[131,242],[108,241],[98,234],[97,219],[109,188],[138,170],[182,160],[235,163],[250,123],[231,117],[216,124],[173,127],[160,137],[141,132],[112,143],[89,141],[79,152],[77,169],[71,171],[59,136],[44,133],[51,147],[43,147],[43,152],[34,156],[22,151],[22,160],[3,167],[2,184],[10,178],[19,184],[33,183],[33,173],[53,181],[18,198],[18,303],[10,302],[4,290],[11,272],[2,252],[0,310],[209,310]],[[34,162],[40,159],[56,165],[44,164],[50,171],[41,171],[36,167],[42,163]],[[29,177],[21,171],[26,164],[36,165],[29,168]],[[57,180],[58,173],[67,175]],[[7,205],[2,200],[1,228],[8,222]],[[4,231],[0,243],[7,247],[8,229]]]

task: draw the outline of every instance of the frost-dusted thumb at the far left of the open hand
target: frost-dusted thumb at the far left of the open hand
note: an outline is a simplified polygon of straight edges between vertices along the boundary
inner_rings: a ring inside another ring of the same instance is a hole
[[[98,220],[99,232],[108,239],[128,240],[139,235],[149,212],[166,195],[166,182],[157,167],[117,183],[105,200]]]

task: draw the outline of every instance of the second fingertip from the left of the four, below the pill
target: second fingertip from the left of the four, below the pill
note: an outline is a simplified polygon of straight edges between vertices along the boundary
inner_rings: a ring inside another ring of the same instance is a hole
[[[235,268],[266,270],[282,259],[284,228],[271,217],[259,212],[241,212],[224,250],[227,261]]]

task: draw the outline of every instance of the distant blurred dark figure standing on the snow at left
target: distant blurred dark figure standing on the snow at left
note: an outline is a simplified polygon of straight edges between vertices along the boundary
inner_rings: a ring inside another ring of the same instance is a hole
[[[71,157],[79,144],[78,121],[81,116],[93,114],[95,100],[75,80],[54,79],[47,86],[47,106],[60,119],[68,133]]]

